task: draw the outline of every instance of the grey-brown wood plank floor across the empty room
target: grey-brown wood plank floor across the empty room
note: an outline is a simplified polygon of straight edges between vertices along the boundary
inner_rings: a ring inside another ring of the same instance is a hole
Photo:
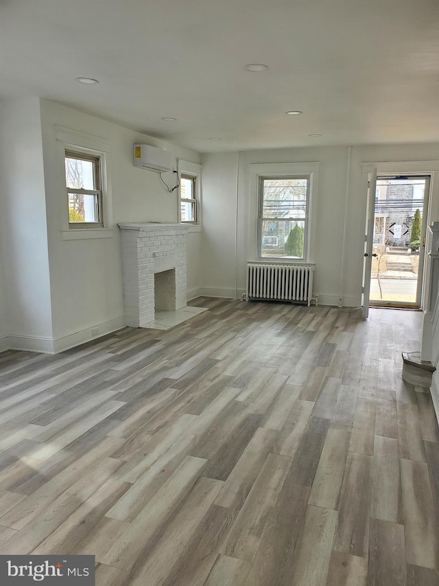
[[[193,305],[0,354],[0,553],[94,554],[99,586],[439,585],[420,313]]]

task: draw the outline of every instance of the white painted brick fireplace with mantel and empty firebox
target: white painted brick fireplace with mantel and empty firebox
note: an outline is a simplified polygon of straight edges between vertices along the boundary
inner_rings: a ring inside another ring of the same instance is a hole
[[[156,311],[185,308],[188,226],[123,223],[119,228],[127,325],[147,327]]]

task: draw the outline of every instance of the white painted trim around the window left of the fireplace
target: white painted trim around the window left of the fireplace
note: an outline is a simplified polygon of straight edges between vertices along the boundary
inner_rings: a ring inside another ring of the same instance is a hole
[[[112,201],[110,183],[110,143],[103,138],[88,135],[70,128],[55,126],[58,150],[59,192],[60,192],[60,234],[62,240],[84,240],[91,238],[112,238]],[[88,224],[84,227],[69,223],[67,202],[67,181],[65,172],[65,153],[73,151],[99,158],[101,179],[102,223]]]

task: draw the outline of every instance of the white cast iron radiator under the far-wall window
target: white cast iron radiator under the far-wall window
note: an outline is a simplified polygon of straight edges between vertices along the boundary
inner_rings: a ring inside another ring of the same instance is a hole
[[[247,301],[272,299],[311,304],[314,267],[247,264]]]

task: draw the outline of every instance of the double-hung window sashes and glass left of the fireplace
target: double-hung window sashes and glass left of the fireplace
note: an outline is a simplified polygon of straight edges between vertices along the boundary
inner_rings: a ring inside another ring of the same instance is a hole
[[[102,227],[100,157],[65,151],[69,228]]]

